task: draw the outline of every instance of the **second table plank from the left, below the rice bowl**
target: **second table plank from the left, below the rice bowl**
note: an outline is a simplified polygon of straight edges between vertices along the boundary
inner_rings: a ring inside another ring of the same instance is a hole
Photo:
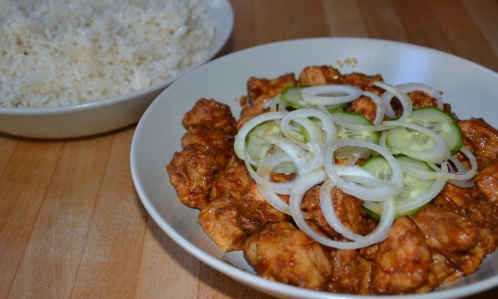
[[[69,297],[112,139],[65,143],[9,297]]]

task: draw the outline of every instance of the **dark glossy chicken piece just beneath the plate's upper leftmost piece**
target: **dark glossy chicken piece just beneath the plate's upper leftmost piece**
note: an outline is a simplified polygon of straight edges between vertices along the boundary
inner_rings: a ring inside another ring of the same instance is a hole
[[[188,128],[182,137],[182,147],[198,143],[206,148],[206,153],[213,157],[224,168],[228,159],[234,154],[234,136],[218,129],[201,126]],[[220,169],[221,170],[221,169]]]

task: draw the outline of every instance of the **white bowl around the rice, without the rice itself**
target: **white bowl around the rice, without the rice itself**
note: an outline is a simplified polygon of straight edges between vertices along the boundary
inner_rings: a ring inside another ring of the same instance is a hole
[[[153,86],[80,105],[42,108],[0,107],[0,132],[33,138],[72,138],[108,132],[137,123],[150,103],[172,82],[212,59],[233,29],[228,0],[205,0],[216,33],[209,54],[184,72]]]

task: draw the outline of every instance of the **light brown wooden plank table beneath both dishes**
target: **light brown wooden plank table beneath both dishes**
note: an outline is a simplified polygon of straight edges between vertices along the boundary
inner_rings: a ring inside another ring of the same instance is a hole
[[[220,55],[354,36],[498,71],[498,0],[232,0]],[[130,175],[135,126],[76,140],[0,134],[0,298],[270,298],[202,264],[149,217]],[[482,297],[481,297],[482,296]],[[469,298],[498,296],[498,288]]]

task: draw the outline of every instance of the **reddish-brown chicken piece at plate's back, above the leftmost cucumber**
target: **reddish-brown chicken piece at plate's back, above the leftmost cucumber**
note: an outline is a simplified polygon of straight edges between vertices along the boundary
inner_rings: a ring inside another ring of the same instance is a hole
[[[296,86],[294,74],[289,73],[275,79],[251,77],[247,80],[247,100],[253,105],[258,99],[267,100],[281,93],[289,86]]]

